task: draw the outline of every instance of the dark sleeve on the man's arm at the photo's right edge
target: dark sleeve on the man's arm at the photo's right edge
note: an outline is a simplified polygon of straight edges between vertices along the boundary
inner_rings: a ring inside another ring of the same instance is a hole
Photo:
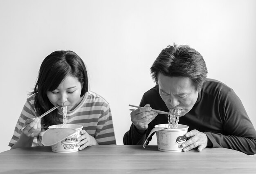
[[[225,98],[222,115],[224,134],[204,132],[211,141],[212,148],[229,148],[249,155],[255,154],[255,128],[233,90]]]

